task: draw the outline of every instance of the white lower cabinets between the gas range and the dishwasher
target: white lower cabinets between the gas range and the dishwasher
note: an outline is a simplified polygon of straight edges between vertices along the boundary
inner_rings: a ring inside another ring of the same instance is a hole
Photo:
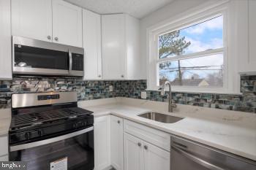
[[[140,135],[139,135],[140,134]],[[95,170],[170,170],[170,134],[107,115],[94,118]]]

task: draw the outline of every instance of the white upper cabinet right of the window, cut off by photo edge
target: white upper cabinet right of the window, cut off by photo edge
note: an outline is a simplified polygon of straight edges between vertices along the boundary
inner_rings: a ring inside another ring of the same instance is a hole
[[[235,35],[236,47],[238,51],[238,72],[255,73],[256,72],[256,1],[236,1],[238,20],[238,33]]]

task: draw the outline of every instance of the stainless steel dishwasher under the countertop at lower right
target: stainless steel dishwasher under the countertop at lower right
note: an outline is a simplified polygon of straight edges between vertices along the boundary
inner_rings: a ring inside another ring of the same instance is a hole
[[[170,170],[256,170],[255,161],[177,136],[170,141]]]

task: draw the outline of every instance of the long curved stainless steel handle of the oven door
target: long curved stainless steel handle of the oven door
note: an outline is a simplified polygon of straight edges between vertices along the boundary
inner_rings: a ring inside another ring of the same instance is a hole
[[[28,143],[28,144],[19,144],[19,145],[10,147],[10,152],[17,151],[17,150],[26,150],[26,149],[29,149],[31,147],[39,147],[39,146],[42,146],[44,144],[50,144],[50,143],[53,143],[53,142],[58,142],[58,141],[61,141],[61,140],[64,140],[64,139],[69,139],[69,138],[72,138],[74,136],[78,136],[80,134],[85,134],[85,133],[87,133],[89,131],[93,131],[93,130],[94,130],[94,127],[91,126],[90,128],[85,128],[85,129],[80,130],[80,131],[75,131],[71,134],[65,134],[63,136],[57,136],[55,138],[45,139],[45,140],[37,141],[37,142],[31,142],[31,143]]]

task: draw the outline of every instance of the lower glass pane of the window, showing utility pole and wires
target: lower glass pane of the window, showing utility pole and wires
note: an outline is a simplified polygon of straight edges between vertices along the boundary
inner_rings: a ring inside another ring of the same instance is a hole
[[[223,86],[223,54],[159,63],[159,85]]]

